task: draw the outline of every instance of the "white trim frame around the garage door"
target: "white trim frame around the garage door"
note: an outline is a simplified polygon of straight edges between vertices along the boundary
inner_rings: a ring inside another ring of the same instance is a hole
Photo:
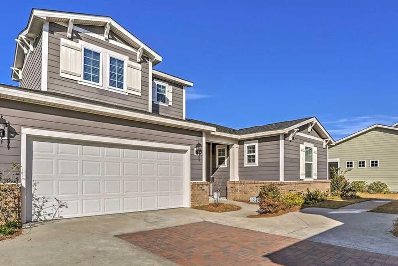
[[[21,129],[21,167],[22,167],[22,199],[21,199],[21,222],[26,223],[26,211],[27,211],[27,164],[28,164],[28,156],[27,154],[27,144],[28,137],[49,137],[53,139],[65,139],[65,140],[73,140],[73,141],[88,141],[94,143],[108,143],[108,144],[121,144],[127,146],[135,146],[135,147],[145,147],[145,148],[161,148],[161,149],[170,149],[170,150],[178,150],[185,151],[184,153],[184,165],[185,167],[185,198],[184,198],[184,206],[190,207],[190,146],[187,145],[177,145],[177,144],[167,144],[167,143],[159,143],[159,142],[151,142],[151,141],[142,141],[135,139],[121,139],[121,138],[113,138],[113,137],[103,137],[103,136],[93,136],[93,135],[85,135],[78,133],[68,133],[68,132],[59,132],[59,131],[50,131],[50,130],[41,130],[41,129],[33,129],[33,128],[22,128]]]

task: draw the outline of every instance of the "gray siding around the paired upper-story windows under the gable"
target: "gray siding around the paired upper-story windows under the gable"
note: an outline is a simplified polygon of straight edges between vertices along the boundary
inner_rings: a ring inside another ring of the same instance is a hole
[[[103,32],[103,27],[97,26],[82,26],[94,32]],[[101,29],[102,28],[102,29]],[[141,82],[141,96],[134,94],[120,94],[104,89],[94,88],[79,84],[76,80],[71,80],[59,76],[59,51],[60,39],[67,38],[67,27],[56,23],[49,23],[48,33],[48,91],[59,92],[72,96],[82,97],[91,100],[103,101],[112,104],[121,105],[124,107],[135,108],[139,110],[148,111],[148,96],[149,96],[149,65],[145,57],[143,57],[142,66],[142,82]],[[88,34],[80,33],[73,30],[73,37],[70,40],[78,42],[83,41],[92,43],[94,45],[118,52],[121,55],[127,56],[129,60],[137,62],[137,54],[131,50],[124,49],[117,45],[111,44],[105,40],[92,37]]]

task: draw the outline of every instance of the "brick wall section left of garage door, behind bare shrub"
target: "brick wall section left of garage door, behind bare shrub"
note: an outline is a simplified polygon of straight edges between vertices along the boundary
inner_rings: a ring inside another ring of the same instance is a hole
[[[14,220],[21,222],[21,184],[19,183],[0,183],[0,200],[5,206],[5,212],[11,212]],[[2,224],[3,216],[0,213],[0,224]]]

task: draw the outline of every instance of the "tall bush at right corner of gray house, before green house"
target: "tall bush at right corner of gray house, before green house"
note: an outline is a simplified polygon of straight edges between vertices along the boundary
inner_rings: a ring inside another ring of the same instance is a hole
[[[348,170],[350,171],[350,170]],[[346,179],[348,171],[340,171],[340,168],[332,168],[330,171],[330,193],[339,198],[357,197],[357,190]]]

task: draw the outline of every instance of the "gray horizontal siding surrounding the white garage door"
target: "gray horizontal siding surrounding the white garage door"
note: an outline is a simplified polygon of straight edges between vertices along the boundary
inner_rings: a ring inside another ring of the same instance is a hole
[[[194,146],[202,141],[202,132],[111,118],[34,103],[0,99],[0,113],[11,122],[10,149],[7,141],[0,145],[0,170],[7,171],[21,161],[21,127],[62,131],[124,139],[155,141],[191,146],[191,181],[202,181],[202,161],[194,155]]]

